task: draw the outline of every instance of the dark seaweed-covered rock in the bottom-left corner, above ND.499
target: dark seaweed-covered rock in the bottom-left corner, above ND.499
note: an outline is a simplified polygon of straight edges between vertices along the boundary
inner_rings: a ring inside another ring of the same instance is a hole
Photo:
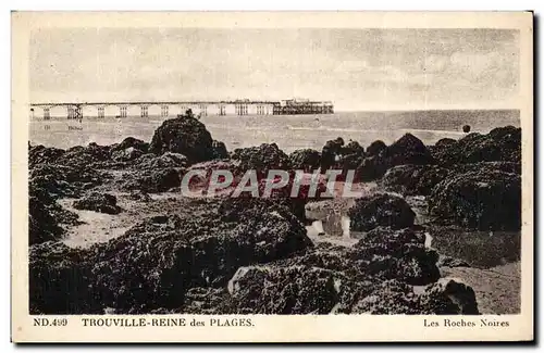
[[[30,314],[103,314],[85,250],[48,241],[30,247],[28,261]]]

